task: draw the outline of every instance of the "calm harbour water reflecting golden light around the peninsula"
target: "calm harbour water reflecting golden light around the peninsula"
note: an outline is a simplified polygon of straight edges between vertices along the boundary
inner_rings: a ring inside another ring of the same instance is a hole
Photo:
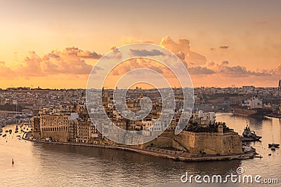
[[[41,144],[16,139],[15,135],[0,138],[0,186],[263,186],[252,183],[181,183],[189,174],[244,174],[263,178],[279,178],[281,183],[281,151],[268,149],[268,143],[281,142],[279,119],[255,119],[218,114],[218,121],[242,133],[246,123],[262,141],[251,143],[263,158],[220,162],[175,162],[164,158],[126,151]],[[10,127],[8,127],[10,128]],[[268,155],[271,153],[272,155]],[[111,157],[113,159],[111,159]],[[11,164],[14,159],[15,165]],[[268,186],[281,186],[271,184]]]

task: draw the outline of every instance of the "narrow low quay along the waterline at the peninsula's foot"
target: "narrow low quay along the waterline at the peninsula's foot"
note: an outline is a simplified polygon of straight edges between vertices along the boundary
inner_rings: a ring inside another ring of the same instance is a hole
[[[255,152],[242,153],[237,155],[204,155],[202,157],[187,157],[183,155],[175,155],[170,153],[161,153],[158,151],[151,151],[148,149],[134,148],[129,146],[105,146],[101,144],[81,144],[81,143],[70,143],[70,142],[53,142],[53,141],[41,141],[41,140],[30,140],[24,139],[27,141],[38,142],[41,144],[60,144],[60,145],[68,145],[68,146],[88,146],[88,147],[96,147],[96,148],[111,148],[122,151],[131,151],[135,153],[141,153],[143,155],[152,155],[162,158],[169,158],[175,161],[181,162],[200,162],[200,161],[223,161],[223,160],[246,160],[254,158]]]

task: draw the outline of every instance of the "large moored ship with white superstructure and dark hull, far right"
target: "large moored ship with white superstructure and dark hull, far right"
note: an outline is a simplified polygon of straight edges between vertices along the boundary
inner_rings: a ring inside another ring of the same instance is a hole
[[[240,116],[266,116],[272,113],[270,106],[263,105],[263,100],[253,97],[250,100],[242,101],[241,105],[232,106],[233,113]]]

